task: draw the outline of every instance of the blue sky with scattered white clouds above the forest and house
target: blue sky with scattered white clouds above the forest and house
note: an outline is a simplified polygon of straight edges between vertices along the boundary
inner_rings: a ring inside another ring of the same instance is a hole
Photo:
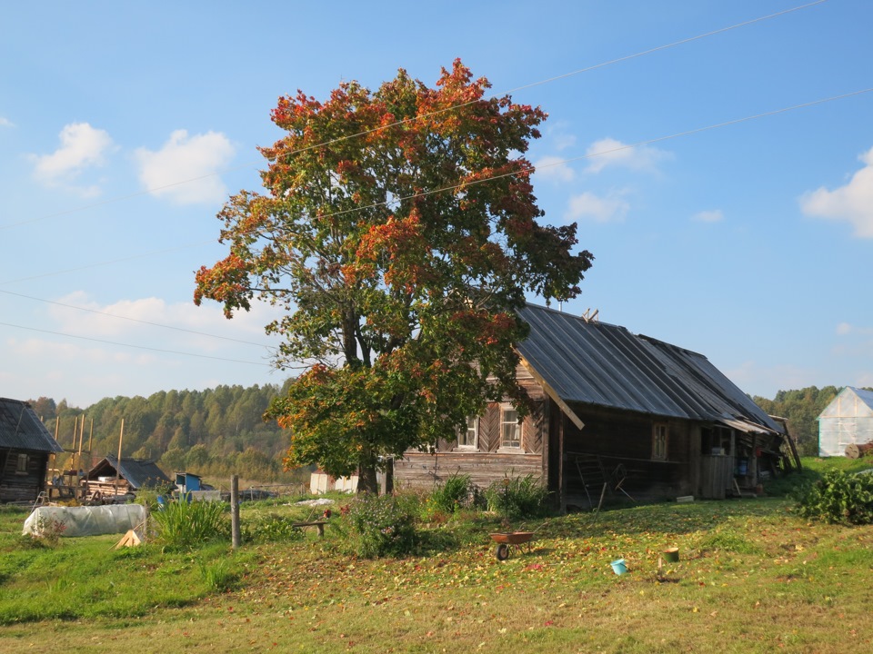
[[[217,211],[281,135],[270,109],[400,67],[433,84],[456,57],[549,114],[539,204],[596,256],[564,311],[752,394],[873,385],[873,3],[804,4],[5,5],[0,396],[281,383],[266,307],[192,302]]]

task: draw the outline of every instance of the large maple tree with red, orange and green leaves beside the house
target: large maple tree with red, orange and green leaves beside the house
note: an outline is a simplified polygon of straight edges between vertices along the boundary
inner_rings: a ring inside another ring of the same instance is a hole
[[[278,367],[306,366],[267,411],[291,432],[287,467],[357,471],[372,491],[383,457],[453,437],[486,401],[524,411],[517,309],[575,297],[593,257],[575,224],[537,222],[524,153],[546,114],[488,87],[456,61],[435,88],[400,70],[273,110],[267,193],[218,214],[229,253],[197,272],[195,301],[286,310],[266,329]]]

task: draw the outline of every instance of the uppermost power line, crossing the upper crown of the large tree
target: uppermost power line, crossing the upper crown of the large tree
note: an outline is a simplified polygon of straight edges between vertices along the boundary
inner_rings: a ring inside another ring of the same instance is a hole
[[[667,50],[669,48],[677,47],[679,45],[686,45],[689,43],[693,43],[694,41],[698,41],[700,39],[707,38],[707,36],[724,34],[726,32],[738,29],[740,27],[754,25],[756,23],[761,23],[763,21],[767,21],[767,20],[770,20],[772,18],[778,18],[779,16],[792,14],[792,13],[800,11],[802,9],[808,9],[808,7],[811,7],[811,6],[821,5],[825,2],[828,2],[828,0],[815,0],[814,2],[807,3],[806,5],[798,5],[796,7],[791,7],[789,9],[785,9],[785,10],[777,12],[775,14],[768,14],[768,15],[764,15],[764,16],[759,16],[758,18],[752,18],[748,21],[743,21],[742,23],[737,23],[735,25],[728,25],[727,27],[721,27],[717,30],[706,32],[704,34],[700,34],[700,35],[696,35],[696,36],[689,36],[687,38],[680,39],[679,41],[674,41],[674,42],[666,44],[666,45],[658,45],[657,47],[648,48],[647,50],[642,50],[642,51],[634,53],[634,54],[627,54],[625,56],[618,57],[617,59],[611,59],[607,62],[602,62],[600,64],[590,65],[590,66],[587,66],[585,68],[579,68],[579,69],[577,69],[575,71],[571,71],[569,73],[556,75],[554,77],[548,77],[547,79],[539,80],[537,82],[532,82],[530,84],[523,84],[521,86],[517,86],[516,88],[509,89],[508,91],[505,91],[502,94],[492,95],[489,99],[494,100],[494,99],[497,99],[501,95],[513,94],[513,93],[516,93],[517,91],[524,91],[526,89],[534,88],[535,86],[540,86],[542,84],[549,84],[551,82],[556,82],[557,80],[567,79],[567,77],[572,77],[572,76],[577,75],[577,74],[587,73],[587,72],[590,72],[593,70],[597,70],[598,68],[604,68],[604,67],[609,66],[609,65],[620,64],[622,62],[630,61],[632,59],[637,59],[638,57],[645,56],[647,54],[654,54],[654,53],[660,52],[662,50]],[[434,115],[444,114],[444,113],[449,112],[449,111],[455,111],[457,109],[461,109],[465,106],[468,106],[470,104],[474,104],[477,102],[479,102],[479,100],[471,100],[470,102],[467,102],[467,103],[455,104],[455,105],[452,105],[450,107],[446,107],[444,109],[439,109],[437,111],[430,112],[428,114],[416,115],[412,118],[406,118],[405,120],[396,121],[396,123],[380,125],[376,128],[365,130],[363,132],[358,132],[356,134],[348,134],[346,136],[340,136],[336,139],[331,139],[329,141],[325,141],[322,143],[307,145],[306,147],[297,148],[296,150],[291,150],[289,152],[286,152],[286,153],[282,154],[281,156],[283,156],[283,157],[284,156],[292,156],[294,154],[301,154],[301,153],[304,153],[308,150],[313,150],[315,148],[326,147],[328,145],[342,143],[344,141],[348,141],[348,140],[351,140],[353,138],[357,138],[359,136],[365,136],[366,134],[373,134],[375,132],[386,130],[386,129],[389,129],[391,127],[395,127],[397,125],[411,123],[411,122],[414,122],[417,120],[422,120],[424,118],[428,118],[428,117],[431,117]],[[257,161],[257,162],[244,163],[244,164],[241,164],[238,166],[233,166],[231,168],[227,168],[225,172],[242,170],[244,168],[248,168],[249,166],[256,166],[258,163],[260,163],[260,162]],[[137,191],[135,193],[127,193],[125,195],[116,195],[115,197],[106,198],[105,200],[98,202],[98,203],[85,204],[85,205],[75,207],[73,209],[67,209],[67,210],[61,211],[61,212],[46,213],[45,215],[37,216],[35,218],[28,218],[26,220],[19,221],[18,223],[7,223],[4,225],[0,225],[0,230],[11,229],[13,227],[18,227],[18,226],[21,226],[23,224],[28,224],[28,223],[36,223],[38,221],[47,220],[49,218],[57,218],[59,216],[68,215],[70,213],[78,213],[78,212],[86,211],[88,209],[94,209],[95,207],[104,206],[105,204],[118,203],[118,202],[122,202],[125,200],[130,200],[130,199],[135,198],[135,197],[140,197],[143,195],[148,195],[150,193],[156,193],[158,191],[164,191],[164,190],[169,189],[169,188],[174,188],[174,187],[182,185],[182,184],[199,182],[200,180],[216,177],[216,176],[218,176],[218,174],[219,173],[209,173],[209,174],[205,174],[205,175],[200,175],[198,177],[192,177],[192,178],[186,179],[186,180],[180,180],[178,182],[163,184],[161,186],[153,186],[151,188],[145,189],[143,191]],[[28,279],[32,279],[32,278],[28,278]]]

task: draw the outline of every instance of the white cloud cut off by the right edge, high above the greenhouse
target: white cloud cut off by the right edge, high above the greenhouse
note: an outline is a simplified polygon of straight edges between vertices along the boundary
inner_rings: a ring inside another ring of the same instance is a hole
[[[873,148],[858,159],[864,167],[851,181],[833,191],[820,187],[800,198],[803,213],[819,218],[846,221],[855,227],[855,235],[873,238]]]

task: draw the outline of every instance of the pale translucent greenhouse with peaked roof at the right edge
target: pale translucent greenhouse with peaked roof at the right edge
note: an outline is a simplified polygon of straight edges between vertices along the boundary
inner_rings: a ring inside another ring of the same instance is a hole
[[[819,456],[858,456],[873,443],[873,391],[847,386],[818,416]]]

